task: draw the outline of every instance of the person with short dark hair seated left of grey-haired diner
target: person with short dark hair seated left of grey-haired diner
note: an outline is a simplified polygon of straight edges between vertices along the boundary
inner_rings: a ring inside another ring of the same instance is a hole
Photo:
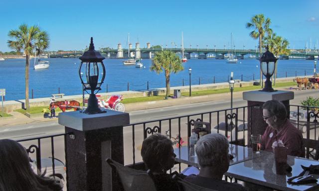
[[[151,135],[143,141],[141,155],[158,191],[178,191],[177,183],[171,178],[177,172],[166,174],[174,166],[176,157],[171,140],[161,134]]]

